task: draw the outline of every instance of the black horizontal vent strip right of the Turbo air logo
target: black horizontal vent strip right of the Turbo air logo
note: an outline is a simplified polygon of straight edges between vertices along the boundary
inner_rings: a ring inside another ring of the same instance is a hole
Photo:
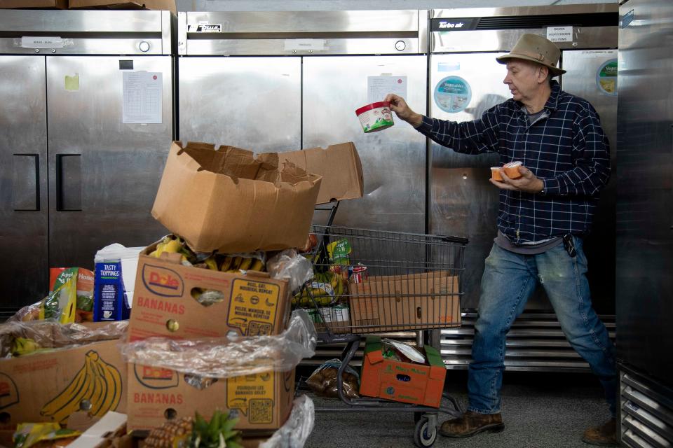
[[[616,27],[619,13],[519,15],[482,17],[476,29],[531,29],[552,26]]]

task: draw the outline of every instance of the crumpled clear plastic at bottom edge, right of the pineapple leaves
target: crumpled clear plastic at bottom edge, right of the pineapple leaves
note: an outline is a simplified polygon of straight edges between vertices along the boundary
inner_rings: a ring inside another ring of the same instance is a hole
[[[292,413],[283,426],[278,428],[259,448],[301,448],[313,431],[315,407],[306,395],[295,398]]]

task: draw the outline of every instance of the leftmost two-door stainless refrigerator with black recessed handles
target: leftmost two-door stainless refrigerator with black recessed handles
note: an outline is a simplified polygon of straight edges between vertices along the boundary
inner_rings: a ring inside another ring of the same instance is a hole
[[[0,15],[5,311],[40,300],[49,267],[93,269],[103,246],[165,232],[150,210],[173,136],[174,21],[165,11]],[[147,76],[151,85],[134,85]]]

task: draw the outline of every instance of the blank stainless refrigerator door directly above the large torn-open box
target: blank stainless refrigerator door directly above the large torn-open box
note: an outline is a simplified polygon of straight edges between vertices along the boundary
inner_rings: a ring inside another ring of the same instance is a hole
[[[301,148],[301,57],[181,57],[179,139]]]

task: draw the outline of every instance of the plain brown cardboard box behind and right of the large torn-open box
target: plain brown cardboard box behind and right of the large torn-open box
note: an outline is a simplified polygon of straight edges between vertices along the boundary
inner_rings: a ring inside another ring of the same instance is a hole
[[[290,160],[306,172],[322,176],[320,193],[315,204],[333,200],[356,199],[365,193],[362,162],[352,142],[280,153],[280,158]]]

